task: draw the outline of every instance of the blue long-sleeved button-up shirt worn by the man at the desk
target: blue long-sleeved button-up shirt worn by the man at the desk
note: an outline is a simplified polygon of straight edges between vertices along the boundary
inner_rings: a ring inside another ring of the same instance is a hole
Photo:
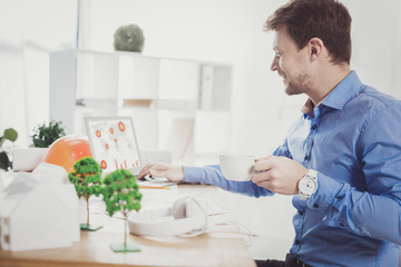
[[[292,254],[312,266],[398,266],[401,101],[352,71],[293,125],[274,155],[319,172],[307,200],[293,197]],[[273,195],[252,181],[226,180],[218,166],[185,167],[184,181]]]

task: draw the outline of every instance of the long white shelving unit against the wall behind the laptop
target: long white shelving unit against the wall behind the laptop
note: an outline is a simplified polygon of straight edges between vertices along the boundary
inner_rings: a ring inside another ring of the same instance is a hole
[[[86,116],[131,116],[141,148],[188,157],[196,152],[194,136],[202,147],[203,125],[229,126],[232,72],[229,65],[135,52],[52,52],[50,118],[61,120],[67,134],[85,135]],[[216,138],[229,139],[221,132]]]

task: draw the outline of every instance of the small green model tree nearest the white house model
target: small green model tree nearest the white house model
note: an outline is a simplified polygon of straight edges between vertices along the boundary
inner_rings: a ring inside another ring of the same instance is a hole
[[[87,222],[81,224],[82,230],[98,230],[102,226],[89,224],[89,198],[101,194],[101,167],[91,157],[84,157],[74,165],[74,171],[68,175],[69,180],[75,185],[78,198],[87,202]]]

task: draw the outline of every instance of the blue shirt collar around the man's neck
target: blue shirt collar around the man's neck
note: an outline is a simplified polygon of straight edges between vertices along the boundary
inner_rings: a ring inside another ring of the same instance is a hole
[[[356,96],[361,87],[362,82],[359,79],[356,72],[353,70],[329,93],[329,96],[319,106],[342,109],[349,100]],[[303,113],[310,113],[313,109],[313,102],[311,99],[307,99],[301,111]]]

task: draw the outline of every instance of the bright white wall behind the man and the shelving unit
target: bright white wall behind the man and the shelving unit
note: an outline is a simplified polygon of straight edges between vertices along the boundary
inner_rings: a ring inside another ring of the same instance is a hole
[[[0,0],[1,131],[17,125],[21,132],[27,132],[38,119],[47,119],[48,65],[43,56],[39,60],[33,55],[27,56],[38,50],[22,43],[35,41],[48,50],[74,47],[76,2],[71,2]],[[273,37],[262,31],[268,14],[286,1],[82,2],[86,12],[82,12],[81,26],[86,34],[81,36],[80,48],[113,51],[115,30],[123,24],[137,23],[144,29],[145,55],[234,65],[233,151],[268,155],[301,115],[299,110],[305,98],[287,97],[283,92],[281,80],[270,70]],[[344,3],[353,17],[353,68],[365,83],[401,97],[401,2],[345,0]],[[29,65],[23,63],[23,57],[30,59]],[[27,79],[23,79],[25,73]],[[28,105],[25,102],[27,96],[30,96]],[[238,224],[262,237],[247,238],[253,255],[283,258],[293,238],[291,197],[253,199],[229,192],[224,196]]]

